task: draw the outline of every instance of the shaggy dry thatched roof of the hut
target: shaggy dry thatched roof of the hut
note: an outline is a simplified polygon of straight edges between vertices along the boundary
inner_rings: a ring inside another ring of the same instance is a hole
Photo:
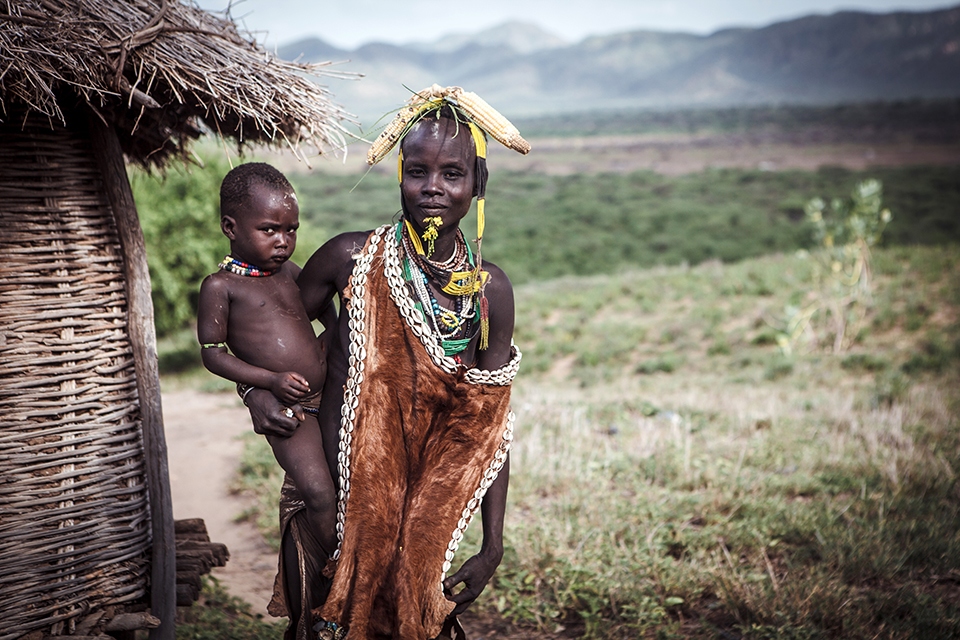
[[[185,2],[0,2],[0,118],[21,103],[28,117],[67,122],[86,103],[145,165],[183,153],[204,128],[295,150],[343,146],[349,114],[306,77],[342,74],[279,60]]]

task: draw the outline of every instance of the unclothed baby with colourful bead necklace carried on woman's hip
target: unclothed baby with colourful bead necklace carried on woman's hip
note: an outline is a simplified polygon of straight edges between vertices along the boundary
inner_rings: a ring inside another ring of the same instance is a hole
[[[242,164],[226,175],[220,228],[230,255],[200,286],[197,334],[208,370],[269,389],[300,420],[290,437],[266,438],[306,504],[311,534],[329,555],[336,548],[337,497],[316,418],[326,357],[300,300],[300,267],[290,262],[299,215],[293,187],[270,165]]]

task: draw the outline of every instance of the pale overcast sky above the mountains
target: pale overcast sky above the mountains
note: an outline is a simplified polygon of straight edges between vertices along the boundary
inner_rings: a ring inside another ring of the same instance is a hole
[[[216,11],[230,4],[197,1]],[[956,0],[234,0],[231,11],[258,41],[271,47],[318,36],[353,49],[372,41],[431,42],[508,20],[531,22],[577,42],[590,35],[637,29],[706,34],[843,9],[923,11],[956,4]]]

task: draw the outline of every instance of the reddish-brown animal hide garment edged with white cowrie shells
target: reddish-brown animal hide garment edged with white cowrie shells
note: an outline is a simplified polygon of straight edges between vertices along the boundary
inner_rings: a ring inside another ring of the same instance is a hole
[[[398,251],[391,232],[377,234],[383,241],[368,240],[345,296],[351,318],[362,318],[351,325],[346,447],[341,430],[348,458],[341,484],[349,497],[337,572],[319,615],[345,625],[351,640],[427,640],[454,608],[441,580],[459,541],[455,532],[462,535],[476,497],[499,470],[494,459],[502,463],[512,438],[509,383],[520,354],[514,350],[500,370],[513,373],[498,384],[438,366],[436,350],[431,356],[425,348],[435,337],[411,329],[397,302],[408,296],[406,287],[396,271],[392,282],[385,274],[390,250]]]

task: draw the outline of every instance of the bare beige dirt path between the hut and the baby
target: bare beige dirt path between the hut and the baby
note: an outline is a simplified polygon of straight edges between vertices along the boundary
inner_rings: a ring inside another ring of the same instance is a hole
[[[227,590],[267,616],[277,554],[251,523],[235,522],[248,503],[231,495],[230,481],[251,429],[246,408],[230,394],[180,389],[163,393],[173,515],[203,518],[210,539],[230,550],[227,566],[213,570]]]

